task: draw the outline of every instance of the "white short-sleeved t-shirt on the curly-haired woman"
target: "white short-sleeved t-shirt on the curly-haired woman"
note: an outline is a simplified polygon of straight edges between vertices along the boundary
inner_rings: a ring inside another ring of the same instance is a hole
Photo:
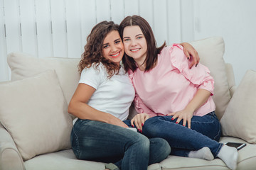
[[[119,74],[114,74],[110,79],[107,76],[107,70],[102,63],[97,69],[92,65],[82,70],[79,83],[96,89],[87,104],[120,120],[126,120],[134,100],[134,87],[123,67],[120,68]]]

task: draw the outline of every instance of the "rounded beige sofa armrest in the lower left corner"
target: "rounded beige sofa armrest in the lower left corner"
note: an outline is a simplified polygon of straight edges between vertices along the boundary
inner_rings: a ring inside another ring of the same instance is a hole
[[[0,123],[0,170],[24,170],[24,163],[14,140]]]

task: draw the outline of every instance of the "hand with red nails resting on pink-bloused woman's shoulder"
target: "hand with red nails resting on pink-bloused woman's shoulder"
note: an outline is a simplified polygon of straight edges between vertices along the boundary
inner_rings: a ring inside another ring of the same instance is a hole
[[[186,57],[188,57],[188,60],[191,60],[191,57],[193,57],[193,62],[191,63],[189,68],[191,68],[193,65],[197,66],[197,64],[200,61],[200,57],[196,49],[188,42],[182,42],[181,45],[183,46],[183,52],[186,55]]]

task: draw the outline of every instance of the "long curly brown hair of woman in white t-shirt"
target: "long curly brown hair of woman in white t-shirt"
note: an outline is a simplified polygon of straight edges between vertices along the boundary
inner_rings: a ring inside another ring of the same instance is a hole
[[[78,64],[80,74],[85,68],[93,66],[97,69],[100,62],[107,69],[108,78],[114,74],[118,74],[119,65],[102,56],[102,44],[107,34],[112,30],[118,31],[118,29],[119,26],[113,21],[102,21],[92,28],[91,33],[87,36],[87,44],[84,47],[85,52],[82,53],[81,60]]]

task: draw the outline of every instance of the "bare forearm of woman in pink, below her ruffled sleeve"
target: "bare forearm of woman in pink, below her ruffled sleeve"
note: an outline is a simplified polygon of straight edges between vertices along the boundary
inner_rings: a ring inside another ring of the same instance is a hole
[[[198,108],[203,106],[210,96],[210,91],[205,89],[198,89],[196,95],[193,96],[192,100],[186,106],[186,110],[195,112]]]

